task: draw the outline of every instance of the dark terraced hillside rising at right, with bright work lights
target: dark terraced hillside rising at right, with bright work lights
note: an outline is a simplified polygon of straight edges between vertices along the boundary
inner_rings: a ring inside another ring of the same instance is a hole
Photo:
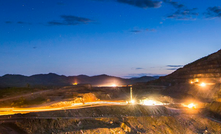
[[[167,93],[188,94],[201,99],[220,97],[221,50],[185,65],[170,75],[148,82],[164,86]]]

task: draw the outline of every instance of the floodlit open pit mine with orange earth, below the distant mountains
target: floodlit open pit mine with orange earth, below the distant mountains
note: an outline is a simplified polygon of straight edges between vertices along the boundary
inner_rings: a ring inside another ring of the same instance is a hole
[[[0,134],[221,133],[221,50],[133,85],[0,91]]]

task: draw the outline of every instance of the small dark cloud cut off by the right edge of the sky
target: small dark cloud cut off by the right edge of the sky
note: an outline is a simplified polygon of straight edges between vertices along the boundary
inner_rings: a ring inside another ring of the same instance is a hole
[[[207,12],[205,12],[204,15],[206,18],[220,18],[221,7],[220,6],[208,7]]]

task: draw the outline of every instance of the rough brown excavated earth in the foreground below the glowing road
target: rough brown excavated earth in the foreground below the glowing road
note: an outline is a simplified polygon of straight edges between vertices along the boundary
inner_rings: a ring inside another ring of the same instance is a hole
[[[7,119],[6,119],[7,118]],[[100,106],[2,116],[0,134],[219,134],[221,125],[164,106]]]

